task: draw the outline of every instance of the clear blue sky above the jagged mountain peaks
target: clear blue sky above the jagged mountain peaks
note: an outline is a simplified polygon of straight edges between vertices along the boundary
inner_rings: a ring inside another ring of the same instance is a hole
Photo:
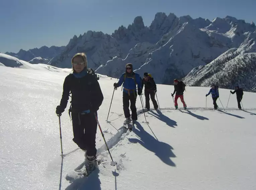
[[[255,7],[256,0],[0,0],[0,52],[67,45],[88,30],[111,34],[136,16],[149,26],[157,12],[256,23]]]

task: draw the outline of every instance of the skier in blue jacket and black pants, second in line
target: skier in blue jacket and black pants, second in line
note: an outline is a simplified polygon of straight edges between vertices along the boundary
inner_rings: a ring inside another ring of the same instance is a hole
[[[126,118],[125,122],[128,124],[131,122],[131,114],[129,110],[129,105],[131,102],[132,111],[132,121],[133,124],[137,121],[137,109],[136,109],[136,99],[137,91],[136,85],[138,86],[138,95],[141,96],[141,77],[139,74],[133,72],[133,64],[128,63],[125,65],[125,73],[121,75],[119,81],[114,83],[114,87],[117,88],[123,84],[123,112]],[[130,102],[129,102],[130,101]]]

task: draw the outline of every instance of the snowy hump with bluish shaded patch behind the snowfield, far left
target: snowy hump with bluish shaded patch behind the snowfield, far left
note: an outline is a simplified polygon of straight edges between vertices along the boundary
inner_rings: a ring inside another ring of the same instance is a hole
[[[0,66],[41,70],[41,71],[49,70],[54,72],[71,72],[72,70],[68,68],[58,68],[51,65],[40,64],[40,63],[35,65],[4,53],[0,53]]]

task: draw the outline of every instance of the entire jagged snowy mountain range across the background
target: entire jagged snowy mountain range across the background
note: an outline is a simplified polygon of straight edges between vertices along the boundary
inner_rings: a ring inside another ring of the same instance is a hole
[[[88,31],[79,37],[75,35],[67,46],[59,49],[51,47],[55,50],[52,51],[52,56],[31,53],[37,48],[28,52],[20,50],[14,56],[27,61],[41,57],[41,62],[49,59],[48,64],[52,66],[71,68],[72,56],[85,52],[89,67],[99,74],[115,78],[124,72],[126,63],[133,63],[135,72],[140,75],[149,72],[159,84],[172,84],[173,79],[182,79],[187,75],[184,80],[191,85],[205,86],[218,81],[219,85],[225,88],[240,83],[244,89],[254,91],[255,78],[250,77],[252,84],[249,85],[246,81],[239,82],[237,78],[232,77],[237,76],[235,73],[238,72],[237,61],[240,58],[245,61],[243,69],[250,70],[249,65],[253,63],[247,63],[246,60],[250,59],[245,57],[254,57],[254,54],[247,53],[256,52],[255,40],[256,26],[253,22],[246,23],[231,16],[217,17],[210,21],[201,17],[193,19],[190,16],[177,17],[173,13],[168,16],[165,13],[157,13],[149,27],[145,26],[143,18],[138,16],[127,28],[120,26],[111,35],[95,31]],[[236,58],[226,58],[230,52],[236,52]],[[230,67],[226,68],[230,70],[229,80],[226,77],[230,84],[222,84],[221,79],[216,78],[219,77],[218,73],[213,73],[222,69],[220,58],[221,63]],[[30,62],[37,63],[38,59]],[[205,67],[207,64],[209,65]],[[208,82],[204,81],[202,73],[206,73],[205,68],[213,68],[216,64],[218,69],[210,72],[212,77]],[[203,70],[199,75],[201,69]]]

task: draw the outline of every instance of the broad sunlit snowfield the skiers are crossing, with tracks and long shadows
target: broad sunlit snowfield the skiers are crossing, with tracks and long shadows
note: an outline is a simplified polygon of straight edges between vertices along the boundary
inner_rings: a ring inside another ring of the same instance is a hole
[[[236,95],[231,95],[226,108],[230,93],[228,89],[220,89],[225,110],[214,111],[210,97],[205,108],[209,88],[186,87],[184,98],[188,111],[183,111],[174,110],[170,95],[173,86],[157,85],[161,112],[145,113],[148,124],[144,114],[139,114],[133,131],[124,132],[120,88],[114,92],[109,122],[106,122],[116,79],[103,75],[99,83],[104,101],[98,117],[117,165],[110,165],[111,159],[98,130],[96,148],[102,163],[88,179],[77,178],[70,183],[66,176],[78,176],[74,169],[83,163],[84,152],[72,141],[67,107],[61,116],[65,155],[61,157],[55,108],[60,103],[68,73],[50,72],[40,65],[33,67],[38,69],[0,69],[0,189],[256,188],[255,93],[244,93],[245,110],[241,111],[237,110]],[[219,100],[217,103],[221,108]],[[181,107],[180,100],[178,104]],[[142,109],[139,97],[136,105],[138,111]]]

